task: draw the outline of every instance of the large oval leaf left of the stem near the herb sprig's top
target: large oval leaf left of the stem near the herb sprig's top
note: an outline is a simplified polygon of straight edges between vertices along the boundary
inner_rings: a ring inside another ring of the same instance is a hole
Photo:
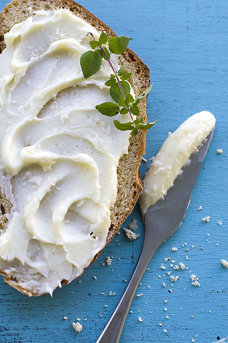
[[[102,57],[97,51],[86,51],[81,55],[80,65],[85,79],[94,75],[102,63]]]

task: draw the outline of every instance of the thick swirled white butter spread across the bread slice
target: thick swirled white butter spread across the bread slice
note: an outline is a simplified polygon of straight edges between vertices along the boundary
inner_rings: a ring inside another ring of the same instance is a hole
[[[95,109],[112,101],[110,65],[82,75],[88,32],[99,37],[67,9],[41,10],[11,28],[0,55],[0,189],[13,204],[0,267],[39,294],[75,279],[106,245],[128,152],[130,131]]]

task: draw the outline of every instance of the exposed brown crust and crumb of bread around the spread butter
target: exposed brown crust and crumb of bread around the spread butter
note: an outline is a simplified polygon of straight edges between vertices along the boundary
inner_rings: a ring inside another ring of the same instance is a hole
[[[33,16],[38,10],[51,10],[60,7],[68,8],[73,14],[90,23],[98,31],[106,31],[109,37],[116,36],[106,24],[72,0],[13,0],[0,13],[0,53],[5,48],[4,34],[8,32],[12,26]],[[124,34],[124,32],[122,34]],[[148,67],[129,48],[124,54],[118,56],[118,63],[124,66],[126,72],[131,71],[133,73],[133,76],[130,79],[133,91],[135,96],[141,94],[150,84]],[[143,116],[146,121],[146,98],[142,99],[139,108],[140,116]],[[139,194],[142,191],[143,182],[140,178],[138,168],[141,156],[145,150],[145,134],[146,132],[141,130],[136,136],[131,136],[128,154],[123,155],[119,161],[119,166],[117,168],[117,198],[111,211],[111,226],[107,235],[107,244],[119,230],[123,221],[132,212]],[[7,214],[13,210],[12,207],[13,205],[5,194],[0,192],[0,233],[7,230]],[[92,262],[95,261],[100,253],[101,251],[94,257]],[[28,296],[38,296],[36,291],[21,287],[17,278],[17,271],[11,274],[10,277],[7,276],[3,269],[0,270],[0,273],[5,277],[4,281],[6,283],[19,290],[21,293]],[[63,280],[61,283],[65,284],[67,282],[68,281]]]

